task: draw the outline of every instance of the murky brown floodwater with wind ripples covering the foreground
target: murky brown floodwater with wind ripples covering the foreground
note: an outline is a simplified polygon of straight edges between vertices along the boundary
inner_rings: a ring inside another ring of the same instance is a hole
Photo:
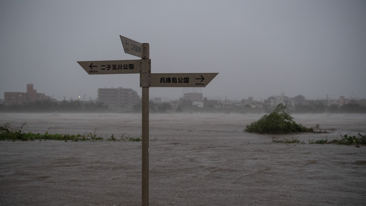
[[[150,114],[150,205],[365,204],[366,147],[308,143],[365,135],[366,114],[292,115],[329,133],[243,132],[263,115]],[[0,114],[6,122],[33,133],[141,135],[141,114]],[[141,142],[0,141],[0,205],[141,205]]]

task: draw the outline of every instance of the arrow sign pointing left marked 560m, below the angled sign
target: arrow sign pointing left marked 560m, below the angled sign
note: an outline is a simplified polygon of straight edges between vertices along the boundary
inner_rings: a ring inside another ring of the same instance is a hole
[[[141,59],[78,62],[88,74],[137,74]]]

